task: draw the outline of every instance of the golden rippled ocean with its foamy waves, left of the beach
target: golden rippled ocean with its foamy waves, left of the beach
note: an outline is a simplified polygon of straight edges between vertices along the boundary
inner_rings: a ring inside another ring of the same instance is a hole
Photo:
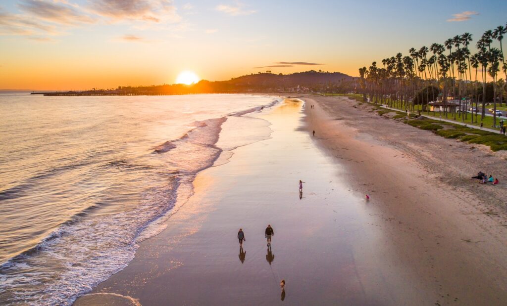
[[[123,269],[279,100],[0,94],[0,304],[71,304]]]

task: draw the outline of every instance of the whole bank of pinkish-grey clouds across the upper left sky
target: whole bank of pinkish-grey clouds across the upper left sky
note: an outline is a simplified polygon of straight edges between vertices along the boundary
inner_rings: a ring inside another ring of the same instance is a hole
[[[0,35],[19,35],[39,42],[53,41],[48,36],[65,34],[65,30],[84,24],[129,21],[132,27],[151,24],[172,31],[181,24],[172,0],[87,0],[80,6],[76,0],[20,0],[18,12],[0,6]],[[153,28],[152,28],[153,29]]]

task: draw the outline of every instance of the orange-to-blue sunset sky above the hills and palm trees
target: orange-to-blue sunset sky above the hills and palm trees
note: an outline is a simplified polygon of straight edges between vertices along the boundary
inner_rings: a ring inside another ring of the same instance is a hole
[[[507,11],[507,4],[498,1],[450,5],[428,0],[411,14],[375,22],[407,8],[385,4],[371,10],[371,5],[369,1],[296,5],[264,0],[4,0],[0,89],[173,84],[184,70],[210,81],[266,70],[322,69],[357,76],[358,68],[372,61],[406,54],[411,47],[443,43],[465,31],[473,33],[475,45],[486,29],[505,23],[502,12]]]

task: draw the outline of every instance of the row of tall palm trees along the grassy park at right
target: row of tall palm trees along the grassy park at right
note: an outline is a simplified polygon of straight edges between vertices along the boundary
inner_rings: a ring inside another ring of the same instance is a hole
[[[493,102],[493,125],[496,126],[497,102],[504,101],[507,86],[507,64],[502,48],[506,33],[507,23],[485,31],[476,42],[474,54],[470,51],[472,34],[463,33],[446,40],[443,45],[434,43],[429,48],[411,48],[409,55],[397,53],[385,58],[381,61],[382,67],[373,62],[370,67],[359,69],[363,96],[372,103],[411,110],[419,109],[420,104],[423,111],[427,110],[429,101],[441,101],[446,118],[449,114],[447,106],[452,105],[451,115],[456,120],[459,113],[462,121],[468,120],[465,108],[475,102],[475,118],[474,112],[470,116],[475,123],[479,102],[482,101],[481,122],[486,104]],[[499,49],[493,45],[495,40],[499,42]],[[500,70],[505,79],[498,78]],[[481,78],[478,80],[479,72]],[[492,101],[487,101],[488,84],[493,86]],[[451,102],[448,102],[449,98]]]

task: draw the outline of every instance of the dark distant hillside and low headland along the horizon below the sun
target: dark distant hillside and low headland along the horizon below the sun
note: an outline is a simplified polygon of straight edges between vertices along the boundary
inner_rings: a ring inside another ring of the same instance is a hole
[[[348,92],[355,88],[356,78],[340,72],[306,71],[292,74],[269,72],[243,75],[228,81],[201,80],[197,84],[120,86],[117,89],[93,89],[81,92],[44,93],[45,95],[178,95],[193,93],[241,92]]]

